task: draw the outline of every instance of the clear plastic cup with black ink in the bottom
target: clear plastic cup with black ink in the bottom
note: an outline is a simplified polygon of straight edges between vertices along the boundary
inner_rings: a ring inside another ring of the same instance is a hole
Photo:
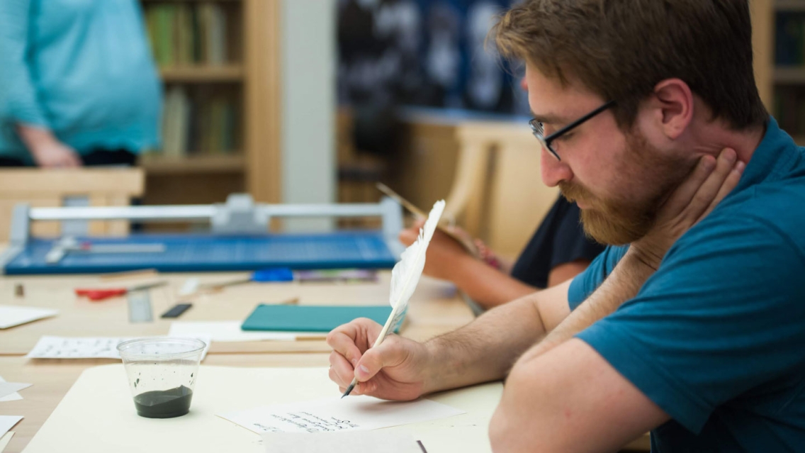
[[[204,347],[199,339],[134,339],[118,344],[137,414],[180,417],[190,411]]]

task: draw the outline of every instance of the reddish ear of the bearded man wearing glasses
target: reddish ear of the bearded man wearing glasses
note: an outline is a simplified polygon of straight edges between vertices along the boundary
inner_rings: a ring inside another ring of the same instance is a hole
[[[668,139],[677,139],[693,119],[693,92],[680,79],[666,79],[654,85],[649,107],[652,118]]]

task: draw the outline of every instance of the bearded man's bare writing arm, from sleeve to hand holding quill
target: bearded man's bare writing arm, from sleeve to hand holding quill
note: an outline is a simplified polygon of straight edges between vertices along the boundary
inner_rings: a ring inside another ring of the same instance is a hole
[[[515,360],[568,316],[570,282],[489,310],[460,330],[418,343],[389,335],[378,347],[377,322],[357,319],[328,335],[330,378],[341,391],[411,400],[426,393],[500,380]]]

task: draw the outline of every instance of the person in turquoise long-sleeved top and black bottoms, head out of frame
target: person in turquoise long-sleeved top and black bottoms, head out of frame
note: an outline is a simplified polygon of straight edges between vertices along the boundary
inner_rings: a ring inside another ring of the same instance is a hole
[[[161,90],[137,0],[0,2],[0,166],[134,164]]]

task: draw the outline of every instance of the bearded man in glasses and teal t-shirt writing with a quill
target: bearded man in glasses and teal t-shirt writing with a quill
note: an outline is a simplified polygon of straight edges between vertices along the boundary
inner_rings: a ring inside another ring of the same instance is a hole
[[[526,62],[542,180],[613,247],[425,343],[339,326],[331,380],[411,400],[505,379],[496,452],[647,431],[659,453],[805,451],[805,148],[762,104],[751,28],[748,0],[514,6],[494,33]]]

